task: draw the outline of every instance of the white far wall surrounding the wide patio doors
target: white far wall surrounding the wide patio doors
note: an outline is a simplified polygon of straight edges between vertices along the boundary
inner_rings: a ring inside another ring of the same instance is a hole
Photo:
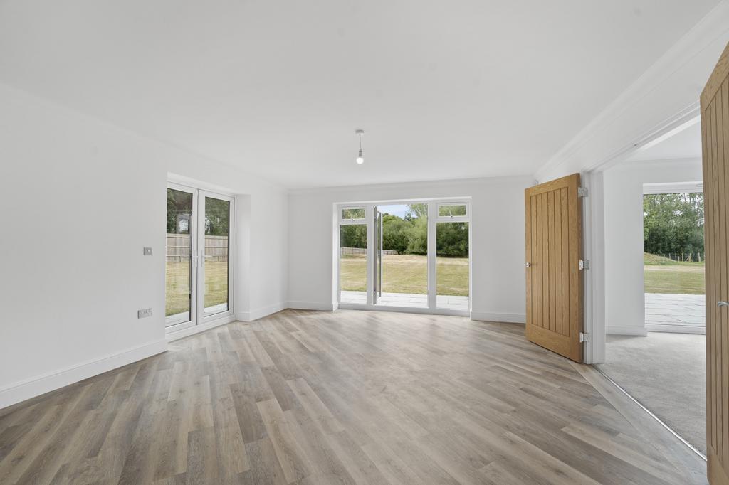
[[[472,318],[523,323],[524,189],[532,182],[515,177],[291,192],[289,306],[335,306],[335,203],[472,197]]]

